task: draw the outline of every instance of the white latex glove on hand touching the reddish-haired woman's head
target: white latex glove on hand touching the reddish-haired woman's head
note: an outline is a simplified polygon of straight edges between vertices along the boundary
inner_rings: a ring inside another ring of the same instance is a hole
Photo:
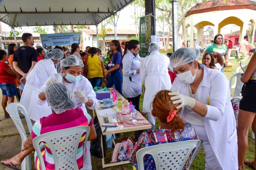
[[[172,102],[173,104],[180,103],[176,109],[180,109],[183,106],[188,106],[189,108],[193,108],[195,106],[196,100],[194,98],[182,95],[179,91],[168,93],[168,95],[172,96],[171,100],[175,100]]]

